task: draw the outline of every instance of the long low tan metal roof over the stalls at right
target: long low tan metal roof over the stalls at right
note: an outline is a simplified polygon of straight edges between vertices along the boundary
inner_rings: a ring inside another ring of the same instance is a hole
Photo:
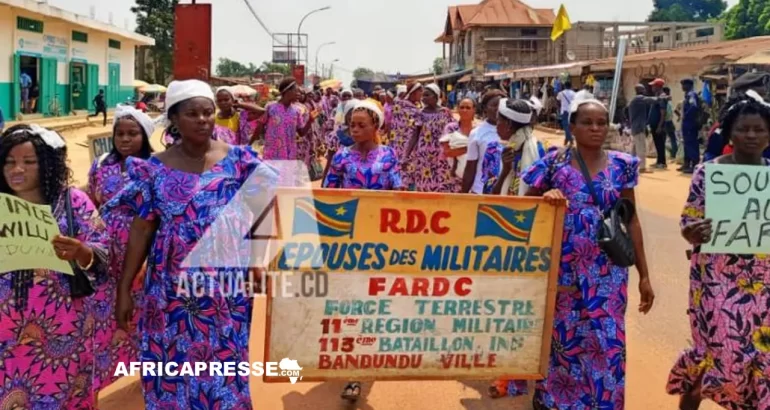
[[[675,63],[677,60],[712,60],[704,61],[705,64],[729,63],[767,49],[770,49],[770,36],[752,37],[743,40],[723,41],[674,50],[628,55],[623,59],[623,68],[649,65],[653,61],[665,61],[669,64]],[[592,70],[612,70],[614,68],[614,57],[591,63]]]

